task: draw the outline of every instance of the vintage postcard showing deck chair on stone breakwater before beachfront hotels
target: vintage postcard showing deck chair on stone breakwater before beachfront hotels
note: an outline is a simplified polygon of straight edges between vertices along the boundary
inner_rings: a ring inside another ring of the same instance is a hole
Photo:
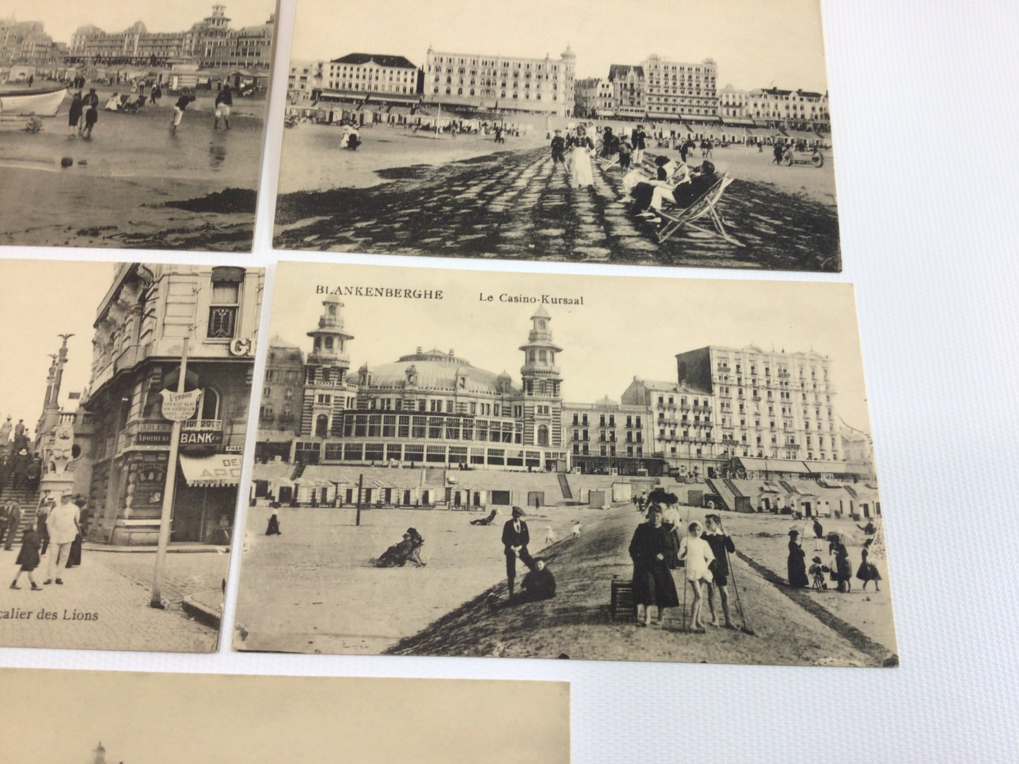
[[[818,0],[298,0],[275,244],[840,271]]]

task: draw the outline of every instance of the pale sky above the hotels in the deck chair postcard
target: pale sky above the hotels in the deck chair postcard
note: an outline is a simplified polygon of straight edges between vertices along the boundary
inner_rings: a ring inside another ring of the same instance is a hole
[[[717,86],[827,90],[819,0],[298,0],[292,58],[385,53],[421,66],[437,51],[553,58],[569,45],[577,76],[648,54],[713,58]]]

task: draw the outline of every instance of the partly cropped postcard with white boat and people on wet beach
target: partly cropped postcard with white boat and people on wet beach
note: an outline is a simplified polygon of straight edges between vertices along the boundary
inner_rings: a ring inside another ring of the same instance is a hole
[[[0,244],[251,251],[274,8],[15,5],[0,20]]]

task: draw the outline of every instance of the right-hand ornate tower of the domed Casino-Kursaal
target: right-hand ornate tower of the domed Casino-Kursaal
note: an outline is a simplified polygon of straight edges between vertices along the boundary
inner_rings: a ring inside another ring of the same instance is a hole
[[[562,443],[562,377],[555,353],[562,348],[552,342],[551,318],[543,307],[531,316],[531,331],[520,374],[524,386],[524,444],[558,447]]]

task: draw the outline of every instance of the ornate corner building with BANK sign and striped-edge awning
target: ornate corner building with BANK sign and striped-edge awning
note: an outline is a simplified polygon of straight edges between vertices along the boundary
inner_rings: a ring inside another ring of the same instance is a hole
[[[260,268],[123,264],[99,306],[90,418],[91,530],[96,541],[154,545],[167,470],[170,542],[229,544],[247,430],[265,272]],[[198,391],[180,423],[179,465],[166,390]]]

